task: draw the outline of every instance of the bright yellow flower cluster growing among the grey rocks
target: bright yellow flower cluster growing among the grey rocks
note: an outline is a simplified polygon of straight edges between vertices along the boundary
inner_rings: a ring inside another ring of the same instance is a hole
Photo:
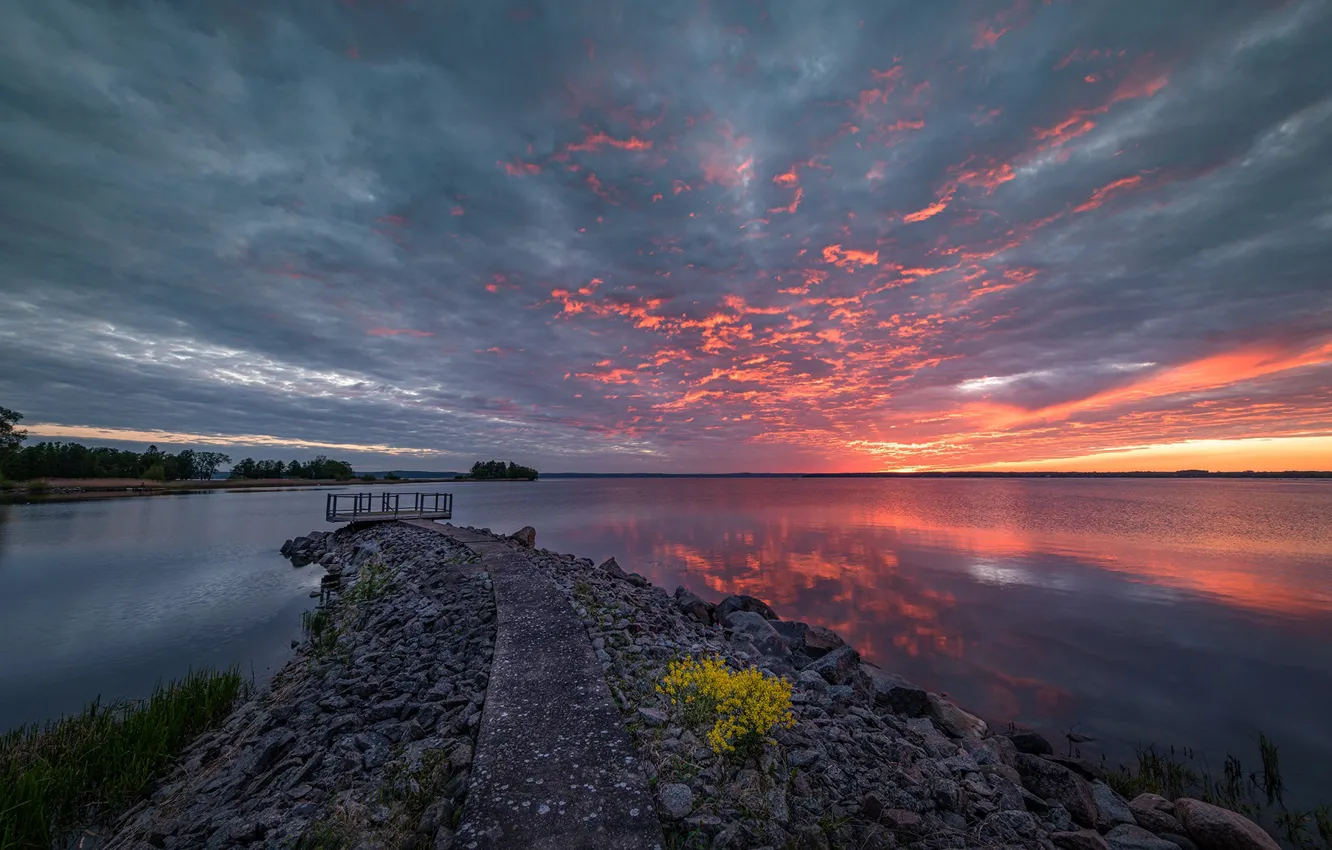
[[[721,658],[673,661],[657,686],[694,727],[711,726],[707,742],[718,755],[753,751],[775,726],[791,727],[791,683],[762,670],[731,670]]]

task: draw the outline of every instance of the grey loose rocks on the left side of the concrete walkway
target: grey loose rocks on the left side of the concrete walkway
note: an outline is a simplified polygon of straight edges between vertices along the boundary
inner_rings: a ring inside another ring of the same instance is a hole
[[[108,847],[453,846],[494,650],[489,576],[400,525],[284,549],[332,578],[305,639]]]

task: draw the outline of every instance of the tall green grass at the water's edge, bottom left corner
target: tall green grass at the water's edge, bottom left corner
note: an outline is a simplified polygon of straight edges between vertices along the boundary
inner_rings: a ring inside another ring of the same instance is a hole
[[[236,667],[190,671],[148,699],[101,705],[0,737],[0,850],[47,850],[128,809],[245,693]]]

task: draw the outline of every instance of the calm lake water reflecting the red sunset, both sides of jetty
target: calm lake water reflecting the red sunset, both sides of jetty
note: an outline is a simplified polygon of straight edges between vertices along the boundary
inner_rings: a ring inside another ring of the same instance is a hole
[[[382,488],[356,486],[348,490]],[[400,488],[413,490],[410,485]],[[1332,801],[1332,482],[677,478],[424,485],[454,522],[839,632],[992,723],[1220,773],[1281,747]],[[0,505],[0,729],[237,663],[272,674],[317,566],[284,540],[329,489]]]

